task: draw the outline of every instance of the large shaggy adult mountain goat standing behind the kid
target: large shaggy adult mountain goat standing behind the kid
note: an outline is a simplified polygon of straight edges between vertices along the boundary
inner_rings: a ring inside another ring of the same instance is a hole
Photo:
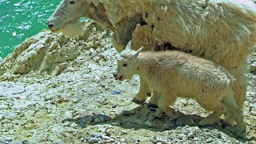
[[[62,0],[48,26],[53,32],[74,36],[82,27],[78,18],[87,17],[113,31],[118,52],[132,39],[135,50],[163,47],[209,59],[236,78],[234,97],[242,109],[246,55],[256,43],[255,10],[249,0]],[[145,101],[150,91],[143,79],[140,84],[134,102]]]

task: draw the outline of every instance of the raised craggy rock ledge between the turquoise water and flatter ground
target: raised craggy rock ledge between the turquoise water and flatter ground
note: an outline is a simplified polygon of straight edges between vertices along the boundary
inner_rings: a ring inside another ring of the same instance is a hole
[[[0,80],[13,80],[28,73],[58,75],[86,50],[110,45],[108,34],[108,30],[90,20],[85,22],[84,32],[79,38],[42,30],[26,38],[0,63]]]

